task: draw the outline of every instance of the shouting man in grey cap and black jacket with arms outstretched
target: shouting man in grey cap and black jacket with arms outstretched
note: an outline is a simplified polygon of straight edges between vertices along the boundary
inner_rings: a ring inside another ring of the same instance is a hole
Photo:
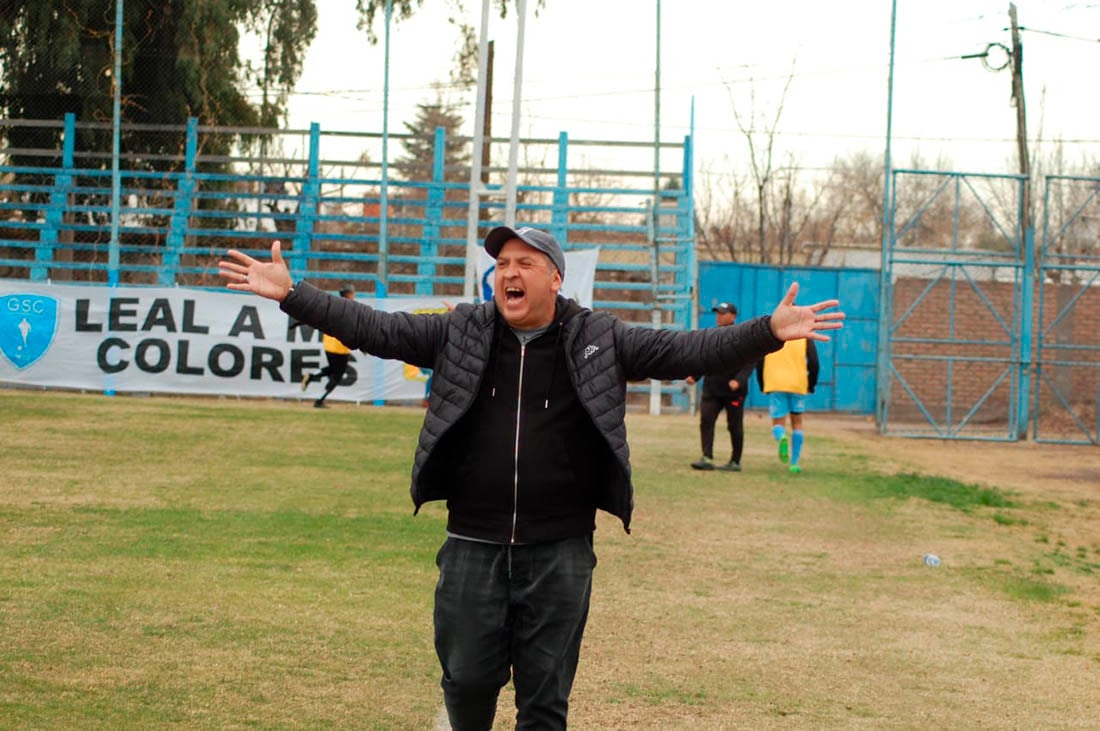
[[[413,501],[447,500],[437,556],[436,652],[458,731],[493,726],[509,675],[517,729],[564,729],[596,565],[597,509],[634,509],[626,384],[710,373],[794,337],[825,339],[835,300],[674,332],[632,326],[558,296],[565,257],[550,234],[498,226],[493,300],[441,314],[383,312],[294,284],[272,261],[230,251],[231,289],[280,302],[349,347],[433,372],[413,463]]]

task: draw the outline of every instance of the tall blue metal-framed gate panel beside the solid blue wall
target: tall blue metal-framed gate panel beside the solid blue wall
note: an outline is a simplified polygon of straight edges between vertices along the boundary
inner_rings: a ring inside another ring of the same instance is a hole
[[[877,416],[884,434],[1018,440],[1027,423],[1031,236],[1021,176],[894,170]]]

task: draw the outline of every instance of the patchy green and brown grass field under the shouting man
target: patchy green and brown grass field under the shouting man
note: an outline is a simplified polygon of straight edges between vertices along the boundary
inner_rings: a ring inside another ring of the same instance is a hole
[[[0,389],[0,727],[433,728],[419,409]],[[693,418],[628,427],[574,728],[1096,728],[1074,506],[812,431],[792,476],[760,419],[745,472],[697,473]]]

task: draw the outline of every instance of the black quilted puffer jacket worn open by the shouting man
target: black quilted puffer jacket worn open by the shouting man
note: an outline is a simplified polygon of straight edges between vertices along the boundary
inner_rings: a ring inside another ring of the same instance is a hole
[[[447,314],[383,312],[299,283],[280,307],[353,350],[435,370],[410,491],[417,510],[430,500],[449,499],[446,465],[430,465],[441,439],[470,411],[482,380],[488,377],[496,306],[463,303]],[[782,342],[771,333],[768,317],[676,332],[630,325],[572,301],[560,300],[558,312],[569,383],[614,465],[604,475],[596,507],[618,517],[629,531],[634,487],[625,421],[627,383],[686,378],[754,362],[779,350]]]

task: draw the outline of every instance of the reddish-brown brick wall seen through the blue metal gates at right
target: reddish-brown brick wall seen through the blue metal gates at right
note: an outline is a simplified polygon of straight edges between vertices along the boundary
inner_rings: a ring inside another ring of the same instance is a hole
[[[1079,422],[1094,431],[1100,287],[1047,284],[1042,298],[1043,322],[1033,332],[1032,347],[1033,373],[1043,376],[1040,431],[1079,431]],[[1038,322],[1037,291],[1033,299]],[[1018,307],[1013,283],[971,283],[963,276],[897,279],[891,358],[899,375],[890,381],[891,421],[927,421],[931,416],[937,423],[958,424],[981,401],[968,425],[1007,425],[1015,388]]]

